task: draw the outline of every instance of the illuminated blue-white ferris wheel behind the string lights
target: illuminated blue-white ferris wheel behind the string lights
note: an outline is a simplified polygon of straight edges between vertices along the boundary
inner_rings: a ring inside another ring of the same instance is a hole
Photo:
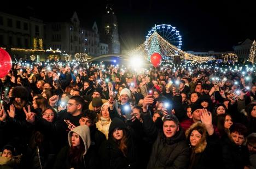
[[[149,37],[154,32],[158,33],[162,38],[168,41],[168,43],[178,47],[178,49],[181,50],[182,36],[179,34],[179,31],[176,29],[176,27],[166,24],[155,25],[150,31],[148,31],[148,34],[146,36],[146,49],[148,49],[149,47]]]

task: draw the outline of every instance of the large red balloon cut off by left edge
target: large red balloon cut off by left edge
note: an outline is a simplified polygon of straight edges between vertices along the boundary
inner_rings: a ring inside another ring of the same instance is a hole
[[[11,64],[12,62],[9,53],[0,47],[0,78],[9,73]]]

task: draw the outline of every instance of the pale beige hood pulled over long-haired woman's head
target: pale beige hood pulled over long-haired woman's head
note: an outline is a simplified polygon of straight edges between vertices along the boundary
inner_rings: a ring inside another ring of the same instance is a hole
[[[85,155],[91,145],[91,136],[90,136],[89,127],[87,125],[79,125],[76,128],[74,128],[73,130],[68,132],[68,143],[69,143],[70,147],[72,146],[72,140],[71,140],[72,138],[71,137],[72,137],[73,132],[75,132],[82,138],[84,147],[85,147],[85,152],[83,155]]]

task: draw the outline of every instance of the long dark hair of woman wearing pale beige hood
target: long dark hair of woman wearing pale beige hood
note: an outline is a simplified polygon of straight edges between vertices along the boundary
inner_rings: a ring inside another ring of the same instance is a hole
[[[71,134],[71,137],[73,135],[73,132]],[[72,145],[69,148],[68,153],[68,159],[71,162],[71,164],[77,164],[78,162],[81,162],[83,159],[83,154],[85,152],[84,142],[83,139],[79,136],[80,145],[78,147],[73,147]]]

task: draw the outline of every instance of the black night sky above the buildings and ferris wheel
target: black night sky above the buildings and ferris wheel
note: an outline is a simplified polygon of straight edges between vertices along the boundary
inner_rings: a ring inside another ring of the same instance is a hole
[[[78,17],[88,23],[96,20],[101,25],[106,1],[38,1],[10,6],[1,5],[1,11],[16,15],[33,14],[43,21],[77,11]],[[72,3],[71,3],[72,2]],[[170,24],[182,35],[182,50],[227,51],[247,38],[256,39],[255,5],[247,1],[112,1],[118,17],[121,49],[133,49],[145,40],[154,24]],[[70,16],[71,17],[71,16]]]

